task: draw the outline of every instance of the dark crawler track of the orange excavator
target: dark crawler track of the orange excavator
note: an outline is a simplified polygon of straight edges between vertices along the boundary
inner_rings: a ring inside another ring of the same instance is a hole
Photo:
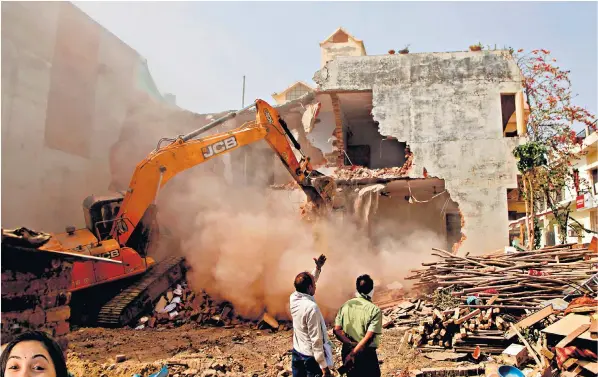
[[[184,277],[183,261],[183,257],[169,257],[157,263],[141,279],[102,306],[97,325],[122,327],[136,319],[169,287]]]

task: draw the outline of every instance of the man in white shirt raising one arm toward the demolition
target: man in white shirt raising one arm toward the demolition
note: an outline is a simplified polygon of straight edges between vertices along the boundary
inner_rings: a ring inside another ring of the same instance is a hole
[[[314,300],[316,282],[326,257],[320,255],[315,270],[295,277],[295,292],[291,294],[293,317],[293,377],[331,376],[332,348],[324,317]]]

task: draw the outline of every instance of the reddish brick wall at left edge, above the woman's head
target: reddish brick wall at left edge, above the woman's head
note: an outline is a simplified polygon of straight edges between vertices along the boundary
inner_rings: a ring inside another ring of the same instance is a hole
[[[2,245],[2,344],[19,333],[41,330],[66,349],[72,263],[49,253]]]

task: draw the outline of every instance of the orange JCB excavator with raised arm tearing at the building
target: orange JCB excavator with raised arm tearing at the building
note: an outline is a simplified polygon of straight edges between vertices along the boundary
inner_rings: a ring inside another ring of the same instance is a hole
[[[255,121],[231,131],[197,138],[253,108]],[[79,309],[75,305],[78,297],[88,306],[84,315],[86,324],[125,326],[180,280],[184,274],[182,257],[170,256],[156,262],[148,256],[152,234],[157,229],[156,199],[160,189],[186,169],[260,140],[265,140],[280,157],[305,192],[311,207],[321,214],[330,211],[336,192],[334,180],[312,168],[309,157],[303,154],[287,124],[276,109],[263,100],[258,99],[187,135],[163,138],[136,166],[126,192],[85,198],[85,228],[67,227],[66,232],[53,234],[47,243],[38,247],[89,256],[73,263],[69,289],[73,294],[71,318],[78,316]],[[299,152],[300,160],[293,147]],[[126,283],[116,284],[117,289],[108,289],[115,286],[115,282]],[[107,299],[100,300],[101,295]],[[95,301],[100,304],[94,305]]]

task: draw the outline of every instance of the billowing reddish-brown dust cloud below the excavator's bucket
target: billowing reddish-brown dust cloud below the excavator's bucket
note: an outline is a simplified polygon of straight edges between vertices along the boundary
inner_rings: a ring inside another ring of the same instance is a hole
[[[267,310],[289,318],[293,279],[311,271],[312,258],[321,253],[328,261],[316,299],[330,319],[352,296],[357,276],[405,284],[403,277],[429,257],[430,247],[444,244],[435,233],[420,230],[398,239],[378,236],[373,247],[348,214],[306,223],[299,201],[286,191],[233,186],[205,172],[184,175],[161,194],[159,219],[182,240],[192,287],[230,301],[245,317],[258,318]]]

